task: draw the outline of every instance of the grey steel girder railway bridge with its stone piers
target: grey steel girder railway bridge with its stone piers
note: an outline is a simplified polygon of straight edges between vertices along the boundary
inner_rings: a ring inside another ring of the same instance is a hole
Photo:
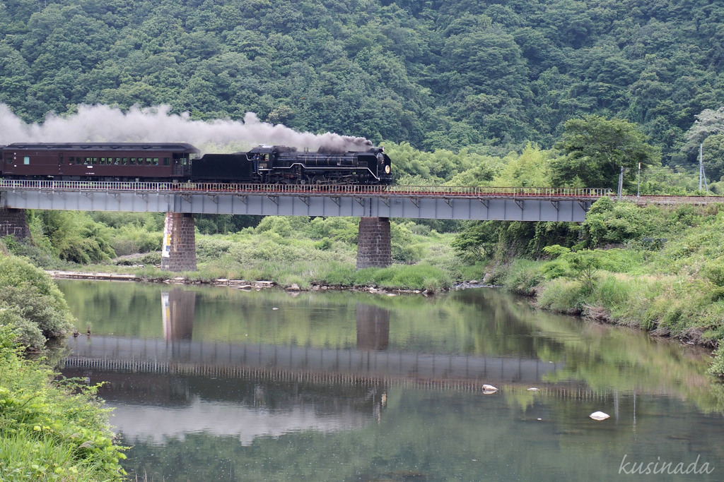
[[[610,189],[0,180],[0,235],[22,210],[165,212],[161,267],[196,269],[194,214],[359,217],[357,267],[391,264],[390,218],[581,222]]]

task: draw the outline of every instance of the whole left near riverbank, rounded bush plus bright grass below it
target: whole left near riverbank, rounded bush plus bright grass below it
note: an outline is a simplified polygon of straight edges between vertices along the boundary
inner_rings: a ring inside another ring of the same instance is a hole
[[[37,350],[46,338],[63,337],[71,322],[48,275],[0,254],[2,481],[108,481],[125,474],[96,387],[56,382],[43,361],[25,357],[25,347]]]

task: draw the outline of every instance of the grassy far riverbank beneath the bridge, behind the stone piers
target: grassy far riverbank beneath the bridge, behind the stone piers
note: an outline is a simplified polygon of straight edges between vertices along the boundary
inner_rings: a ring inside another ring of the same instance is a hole
[[[253,227],[238,228],[230,233],[213,233],[221,222],[217,220],[209,228],[209,220],[199,218],[197,228],[207,233],[196,233],[198,271],[169,273],[159,268],[162,215],[140,218],[137,215],[93,213],[97,218],[95,221],[85,213],[77,215],[84,217],[83,223],[93,232],[93,236],[83,238],[82,243],[77,240],[71,243],[69,230],[63,230],[67,235],[62,237],[55,231],[56,238],[43,238],[43,230],[33,220],[33,239],[41,240],[35,246],[12,238],[5,238],[5,242],[14,253],[30,257],[46,269],[129,273],[143,280],[168,277],[198,282],[267,280],[281,286],[296,284],[302,289],[313,285],[376,286],[437,292],[450,288],[458,280],[479,280],[484,275],[481,266],[470,266],[455,254],[451,247],[455,233],[441,232],[451,231],[446,229],[444,222],[423,224],[393,220],[394,264],[384,269],[356,270],[359,218],[267,217]],[[431,227],[436,224],[441,231]],[[83,246],[86,251],[83,251],[84,256],[71,257],[77,248],[61,252],[51,246]],[[66,259],[59,259],[61,255]],[[69,259],[77,262],[94,259],[96,263],[81,264]]]

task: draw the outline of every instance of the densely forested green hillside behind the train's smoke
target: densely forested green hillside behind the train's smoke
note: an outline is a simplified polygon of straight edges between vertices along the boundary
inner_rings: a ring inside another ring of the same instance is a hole
[[[684,163],[694,116],[724,103],[723,42],[711,0],[14,0],[0,103],[25,121],[83,103],[252,111],[496,155],[597,113]]]

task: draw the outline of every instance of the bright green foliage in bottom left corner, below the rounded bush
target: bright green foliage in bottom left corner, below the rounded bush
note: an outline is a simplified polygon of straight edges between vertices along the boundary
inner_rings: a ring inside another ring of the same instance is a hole
[[[0,478],[3,481],[122,480],[125,459],[113,443],[97,387],[53,382],[54,373],[21,358],[0,324]]]

